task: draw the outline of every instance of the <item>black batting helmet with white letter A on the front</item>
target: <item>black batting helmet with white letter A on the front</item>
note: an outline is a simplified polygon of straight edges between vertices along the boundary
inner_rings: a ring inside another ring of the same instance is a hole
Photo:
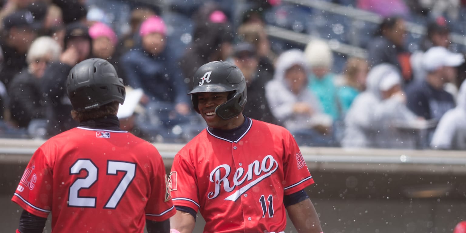
[[[191,96],[194,110],[199,113],[197,93],[231,92],[228,101],[215,109],[215,114],[228,120],[238,116],[246,104],[246,80],[241,70],[231,62],[209,62],[196,71],[192,77],[193,88],[188,93]]]

